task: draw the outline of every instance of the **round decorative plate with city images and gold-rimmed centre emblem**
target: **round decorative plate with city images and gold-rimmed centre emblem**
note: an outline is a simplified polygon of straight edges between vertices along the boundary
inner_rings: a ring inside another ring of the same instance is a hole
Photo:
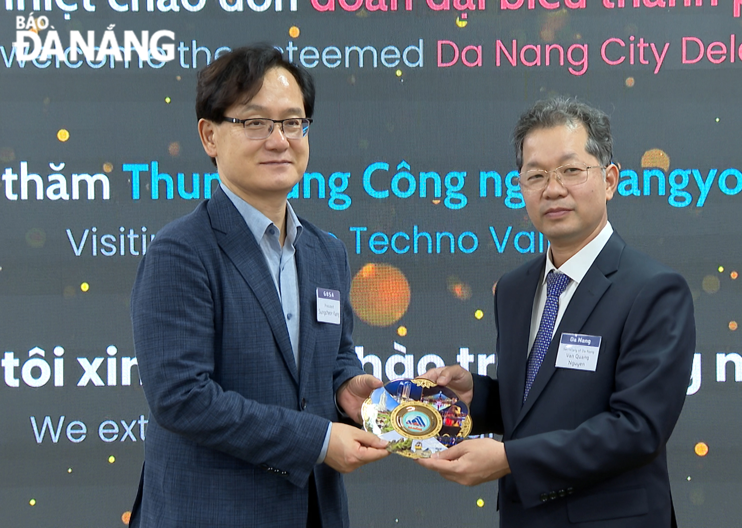
[[[429,379],[395,379],[377,388],[361,407],[364,429],[403,457],[429,458],[471,431],[467,405],[454,391]]]

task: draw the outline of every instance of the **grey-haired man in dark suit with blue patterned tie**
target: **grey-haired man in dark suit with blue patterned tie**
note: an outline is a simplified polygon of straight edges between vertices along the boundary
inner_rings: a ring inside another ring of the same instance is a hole
[[[619,170],[603,112],[538,102],[514,140],[528,216],[551,249],[496,285],[497,379],[427,373],[470,403],[475,433],[502,442],[420,463],[467,485],[500,479],[503,528],[674,526],[665,446],[695,348],[688,285],[608,223]]]

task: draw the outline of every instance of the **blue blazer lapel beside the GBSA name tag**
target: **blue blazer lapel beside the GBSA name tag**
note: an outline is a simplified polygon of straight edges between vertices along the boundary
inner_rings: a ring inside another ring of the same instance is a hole
[[[316,250],[312,233],[304,229],[296,244],[296,271],[299,278],[299,362],[301,372],[309,372],[315,353],[315,307],[316,280],[319,265],[315,260]],[[314,280],[312,280],[314,279]],[[301,378],[300,378],[301,379]]]

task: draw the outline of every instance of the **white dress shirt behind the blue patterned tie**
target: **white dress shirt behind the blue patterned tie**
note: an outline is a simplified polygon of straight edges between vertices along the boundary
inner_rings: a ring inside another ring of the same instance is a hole
[[[531,312],[531,336],[528,338],[528,354],[531,354],[531,348],[533,348],[533,342],[536,341],[536,333],[539,331],[539,325],[541,325],[541,316],[544,313],[544,305],[546,304],[546,276],[551,270],[557,270],[564,273],[566,276],[571,278],[567,287],[559,296],[559,311],[557,312],[557,321],[554,322],[554,330],[551,332],[551,337],[554,338],[554,333],[557,332],[559,322],[562,320],[569,302],[574,296],[575,290],[580,286],[580,281],[585,278],[585,273],[593,265],[593,262],[603,251],[605,243],[608,242],[608,238],[613,235],[613,227],[610,222],[606,222],[603,229],[600,230],[598,235],[588,242],[582,250],[578,251],[572,257],[566,261],[562,266],[557,268],[554,266],[554,262],[551,261],[551,248],[546,251],[546,267],[544,268],[544,274],[539,281],[539,287],[536,288],[536,296],[533,297],[533,310]]]

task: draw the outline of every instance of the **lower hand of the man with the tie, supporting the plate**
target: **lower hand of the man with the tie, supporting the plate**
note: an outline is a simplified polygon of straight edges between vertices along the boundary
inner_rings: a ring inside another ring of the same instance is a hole
[[[464,440],[430,458],[419,458],[416,462],[464,486],[476,486],[510,473],[505,444],[492,438]]]

